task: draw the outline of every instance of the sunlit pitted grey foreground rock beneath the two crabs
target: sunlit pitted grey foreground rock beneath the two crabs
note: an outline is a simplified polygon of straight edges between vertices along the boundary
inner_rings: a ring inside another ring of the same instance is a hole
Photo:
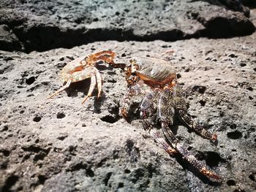
[[[0,52],[1,191],[254,191],[256,188],[256,34],[178,42],[94,42],[43,53]],[[140,99],[119,115],[124,72],[100,64],[104,94],[81,105],[90,80],[61,87],[58,74],[72,58],[110,49],[170,60],[187,91],[189,112],[217,133],[217,145],[176,121],[181,142],[222,177],[214,183],[179,155],[147,136]],[[175,50],[176,55],[170,55]],[[167,52],[167,53],[166,53]],[[162,55],[162,53],[166,53]]]

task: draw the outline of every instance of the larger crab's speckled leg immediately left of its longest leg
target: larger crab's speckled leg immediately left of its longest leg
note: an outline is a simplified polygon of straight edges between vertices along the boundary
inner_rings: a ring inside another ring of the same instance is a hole
[[[145,131],[148,131],[148,134],[150,134],[151,137],[153,137],[154,140],[159,145],[162,145],[162,147],[168,154],[173,155],[173,153],[176,153],[176,150],[173,149],[173,147],[170,147],[170,145],[167,142],[165,142],[165,139],[160,136],[158,131],[154,130],[152,124],[148,120],[148,118],[150,118],[151,115],[153,115],[156,110],[154,109],[155,108],[154,104],[157,103],[158,97],[159,97],[158,91],[153,91],[152,93],[148,93],[144,97],[140,105],[140,117],[142,119],[143,127]]]

